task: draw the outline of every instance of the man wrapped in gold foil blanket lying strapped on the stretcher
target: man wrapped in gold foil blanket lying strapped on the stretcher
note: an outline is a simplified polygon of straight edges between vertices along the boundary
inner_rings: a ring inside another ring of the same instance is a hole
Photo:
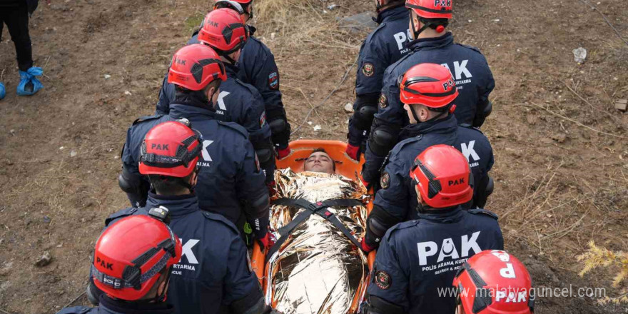
[[[369,196],[357,178],[336,173],[334,151],[301,151],[290,166],[303,172],[288,165],[275,172],[270,232],[278,242],[263,256],[266,304],[283,314],[353,314],[368,285],[358,239]]]

